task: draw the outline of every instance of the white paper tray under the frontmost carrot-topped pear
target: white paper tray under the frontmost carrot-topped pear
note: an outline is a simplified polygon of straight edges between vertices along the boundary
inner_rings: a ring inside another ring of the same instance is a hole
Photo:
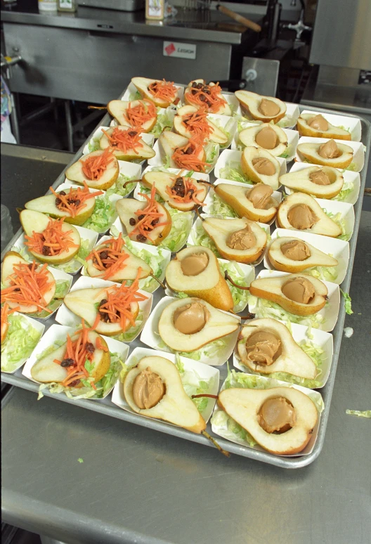
[[[32,356],[28,359],[27,363],[22,369],[22,375],[27,377],[28,380],[31,380],[34,383],[41,384],[41,382],[37,382],[37,380],[34,380],[34,378],[31,375],[32,367],[35,363],[37,363],[37,356],[41,354],[46,348],[49,346],[52,346],[54,342],[56,341],[65,341],[67,339],[67,335],[72,335],[74,331],[76,330],[76,327],[67,327],[65,325],[51,325],[51,328],[49,328],[45,335],[41,338],[39,344],[37,344],[37,347],[34,349]],[[124,342],[117,342],[114,338],[110,338],[108,336],[100,335],[105,339],[105,342],[107,342],[108,349],[112,354],[119,354],[121,360],[123,363],[126,361],[126,357],[129,354],[129,346],[124,344]],[[112,387],[106,392],[104,396],[101,397],[101,399],[105,399],[110,392],[112,391],[115,384],[112,384]],[[62,395],[62,393],[58,393],[57,395]],[[88,399],[89,401],[96,401],[101,399]]]

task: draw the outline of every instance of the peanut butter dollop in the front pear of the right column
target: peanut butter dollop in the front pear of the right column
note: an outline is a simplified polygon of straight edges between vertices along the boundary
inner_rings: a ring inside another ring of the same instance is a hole
[[[268,399],[259,410],[259,425],[269,433],[286,432],[292,429],[296,422],[294,406],[282,396],[277,399]]]

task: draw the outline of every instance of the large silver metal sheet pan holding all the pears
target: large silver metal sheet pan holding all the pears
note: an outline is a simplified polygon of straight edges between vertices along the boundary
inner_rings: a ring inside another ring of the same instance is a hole
[[[307,106],[301,107],[299,105],[299,109],[304,110],[304,109],[308,109],[308,107]],[[310,108],[310,109],[315,112],[333,113],[338,115],[340,114],[340,112],[338,111],[327,110],[325,108]],[[358,117],[356,115],[351,115],[349,113],[346,113],[346,115],[348,115],[349,117]],[[359,118],[360,117],[358,117],[358,119]],[[108,126],[110,119],[111,119],[110,115],[108,114],[105,115],[105,117],[98,124],[98,127],[100,125]],[[346,272],[345,279],[343,283],[341,284],[341,288],[345,292],[349,292],[349,287],[351,285],[351,274],[353,269],[354,257],[356,254],[356,243],[357,243],[357,237],[358,237],[358,228],[360,224],[360,213],[362,210],[363,192],[365,189],[367,164],[369,161],[370,145],[371,145],[371,124],[370,122],[362,118],[360,118],[360,121],[362,124],[362,140],[361,141],[366,146],[365,166],[363,167],[363,171],[360,172],[360,196],[358,197],[358,201],[354,205],[356,221],[354,225],[353,236],[349,242],[349,249],[350,249],[349,266]],[[96,129],[92,131],[91,135],[88,138],[88,141],[93,135],[94,131],[96,131]],[[79,159],[79,157],[82,156],[82,150],[84,148],[84,145],[85,143],[82,145],[81,148],[79,148],[79,150],[77,151],[76,155],[74,155],[74,158],[70,162],[70,164],[72,164],[73,162],[76,162]],[[70,166],[70,164],[67,165],[66,169]],[[64,172],[65,170],[63,171],[62,174],[60,174],[60,176],[58,176],[58,179],[53,183],[53,188],[57,188],[60,185],[60,183],[63,183],[63,181],[65,181]],[[211,179],[212,181],[215,180],[214,174],[211,175]],[[23,203],[20,202],[20,205],[22,204]],[[4,252],[2,252],[1,260],[3,259],[6,251],[8,251],[10,247],[15,243],[15,241],[19,238],[21,233],[22,233],[22,228],[20,228],[18,233],[16,233],[13,239],[11,240],[11,242],[9,242]],[[262,268],[263,268],[263,264],[256,266],[256,275],[259,273],[259,271]],[[78,275],[77,277],[74,276],[74,281],[76,281],[78,277],[79,277]],[[153,307],[157,304],[157,302],[159,302],[162,296],[164,295],[162,294],[161,290],[157,290],[154,293]],[[325,403],[325,409],[323,410],[323,413],[320,417],[318,436],[317,436],[317,440],[315,441],[315,446],[313,448],[313,451],[311,453],[309,453],[308,455],[302,455],[298,457],[280,457],[278,455],[273,455],[272,453],[254,450],[252,448],[248,448],[245,446],[240,446],[239,444],[236,444],[221,438],[221,436],[214,435],[214,433],[211,432],[210,422],[207,424],[207,432],[209,432],[211,436],[214,436],[214,438],[218,441],[218,443],[221,445],[222,448],[224,448],[226,451],[229,451],[230,453],[234,453],[235,455],[241,455],[242,457],[255,459],[258,461],[266,462],[269,465],[275,465],[277,467],[288,468],[288,469],[297,469],[301,467],[306,467],[306,465],[310,465],[316,458],[318,458],[318,455],[320,455],[320,452],[322,451],[322,448],[323,448],[323,443],[325,441],[327,420],[330,413],[332,391],[334,389],[334,381],[335,381],[335,375],[337,370],[337,361],[339,358],[341,338],[343,335],[344,319],[345,319],[345,309],[344,309],[344,304],[342,304],[342,301],[341,301],[339,317],[337,319],[337,325],[335,326],[332,332],[332,335],[334,337],[334,355],[332,358],[330,376],[327,380],[327,384],[325,385],[325,387],[323,387],[323,389],[320,389],[320,393],[322,394],[323,401]],[[53,323],[56,323],[56,321],[53,318],[51,318],[51,319],[48,319],[45,323],[46,323],[46,330],[47,330],[47,328],[53,325]],[[144,347],[144,344],[142,344],[142,342],[139,339],[136,339],[134,342],[131,342],[131,344],[129,344],[129,354],[131,354],[131,351],[133,351],[133,349],[138,346]],[[226,375],[227,375],[226,365],[219,367],[219,370],[221,373],[221,382],[220,382],[221,384],[226,379]],[[28,389],[29,391],[34,391],[34,393],[37,394],[37,391],[39,389],[39,384],[30,382],[29,380],[27,380],[24,376],[22,376],[21,371],[22,371],[22,368],[17,370],[14,374],[1,373],[1,380],[3,382],[7,382],[8,384],[22,387],[22,389]],[[187,431],[186,429],[182,429],[180,427],[174,427],[174,425],[168,425],[167,423],[160,422],[157,420],[150,420],[150,418],[141,417],[141,415],[132,414],[130,412],[127,412],[126,410],[121,410],[110,401],[110,396],[100,401],[89,401],[84,399],[82,400],[68,399],[67,396],[65,396],[65,394],[59,394],[58,396],[56,396],[55,394],[53,395],[49,393],[47,389],[44,389],[43,393],[45,396],[51,396],[63,402],[71,403],[76,406],[81,406],[82,408],[87,408],[88,410],[93,410],[95,412],[103,413],[105,415],[109,415],[110,417],[116,417],[119,420],[125,420],[128,422],[134,423],[136,425],[141,425],[142,427],[149,427],[150,429],[155,429],[156,431],[160,431],[165,434],[178,436],[178,438],[181,438],[181,439],[185,439],[185,440],[189,440],[189,441],[193,441],[197,443],[202,443],[205,446],[214,447],[212,446],[211,442],[207,438],[205,438],[203,435],[195,434],[193,432]],[[35,401],[36,401],[36,396],[35,396]],[[216,455],[219,455],[219,453],[216,453]]]

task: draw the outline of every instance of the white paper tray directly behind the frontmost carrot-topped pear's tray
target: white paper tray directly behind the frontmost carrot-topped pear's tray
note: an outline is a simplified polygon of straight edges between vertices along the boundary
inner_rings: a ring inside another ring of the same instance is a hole
[[[91,287],[111,287],[112,285],[117,285],[119,287],[119,285],[121,284],[115,283],[113,281],[101,280],[100,278],[89,278],[89,276],[82,276],[77,280],[76,283],[74,283],[71,292],[77,291],[79,289],[90,289]],[[139,315],[142,313],[143,319],[140,327],[138,327],[138,330],[136,331],[136,335],[130,340],[125,340],[125,342],[127,342],[128,344],[129,342],[133,342],[136,337],[141,333],[141,330],[143,330],[145,321],[148,319],[152,308],[152,294],[141,290],[138,290],[138,293],[141,293],[145,297],[147,297],[145,300],[138,302]],[[56,315],[56,321],[60,323],[60,325],[66,325],[67,327],[77,327],[81,323],[81,320],[82,318],[70,311],[64,303],[62,304],[62,306],[60,306],[60,309],[58,310],[58,313]],[[93,325],[93,323],[89,323],[89,325]],[[115,339],[115,337],[113,338]]]

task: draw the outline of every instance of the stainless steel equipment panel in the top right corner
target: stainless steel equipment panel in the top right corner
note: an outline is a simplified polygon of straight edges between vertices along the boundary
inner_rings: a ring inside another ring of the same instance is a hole
[[[309,62],[371,70],[370,0],[318,0]]]

